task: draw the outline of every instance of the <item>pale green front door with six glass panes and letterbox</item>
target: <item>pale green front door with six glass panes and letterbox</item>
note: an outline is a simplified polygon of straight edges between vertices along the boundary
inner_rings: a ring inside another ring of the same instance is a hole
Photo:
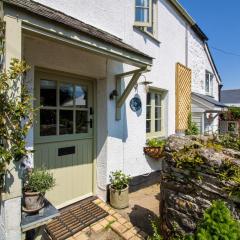
[[[46,197],[63,207],[93,193],[93,83],[37,71],[34,167],[49,169],[56,186]]]

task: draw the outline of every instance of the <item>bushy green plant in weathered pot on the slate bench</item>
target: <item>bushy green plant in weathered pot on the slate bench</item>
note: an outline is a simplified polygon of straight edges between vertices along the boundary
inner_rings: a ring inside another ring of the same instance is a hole
[[[24,210],[37,212],[43,208],[45,193],[54,186],[55,179],[46,169],[28,171],[23,187]]]

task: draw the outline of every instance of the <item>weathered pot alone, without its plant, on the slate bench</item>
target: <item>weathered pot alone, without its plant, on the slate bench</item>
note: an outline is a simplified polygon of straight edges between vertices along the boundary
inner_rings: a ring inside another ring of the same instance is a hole
[[[40,192],[24,192],[25,208],[28,211],[37,211],[44,206],[44,196]]]

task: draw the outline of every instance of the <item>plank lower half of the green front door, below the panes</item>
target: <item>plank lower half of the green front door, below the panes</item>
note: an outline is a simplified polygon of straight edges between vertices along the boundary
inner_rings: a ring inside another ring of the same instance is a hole
[[[66,147],[75,147],[75,153],[58,156]],[[46,195],[55,205],[92,193],[92,139],[37,144],[34,165],[46,167],[56,178],[56,186]]]

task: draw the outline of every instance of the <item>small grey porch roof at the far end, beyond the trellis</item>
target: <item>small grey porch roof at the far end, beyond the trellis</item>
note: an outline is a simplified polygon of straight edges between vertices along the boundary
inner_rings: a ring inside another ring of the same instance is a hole
[[[192,99],[195,102],[199,103],[202,107],[204,106],[204,109],[207,112],[225,111],[227,108],[225,104],[215,100],[213,97],[200,93],[192,92]]]

